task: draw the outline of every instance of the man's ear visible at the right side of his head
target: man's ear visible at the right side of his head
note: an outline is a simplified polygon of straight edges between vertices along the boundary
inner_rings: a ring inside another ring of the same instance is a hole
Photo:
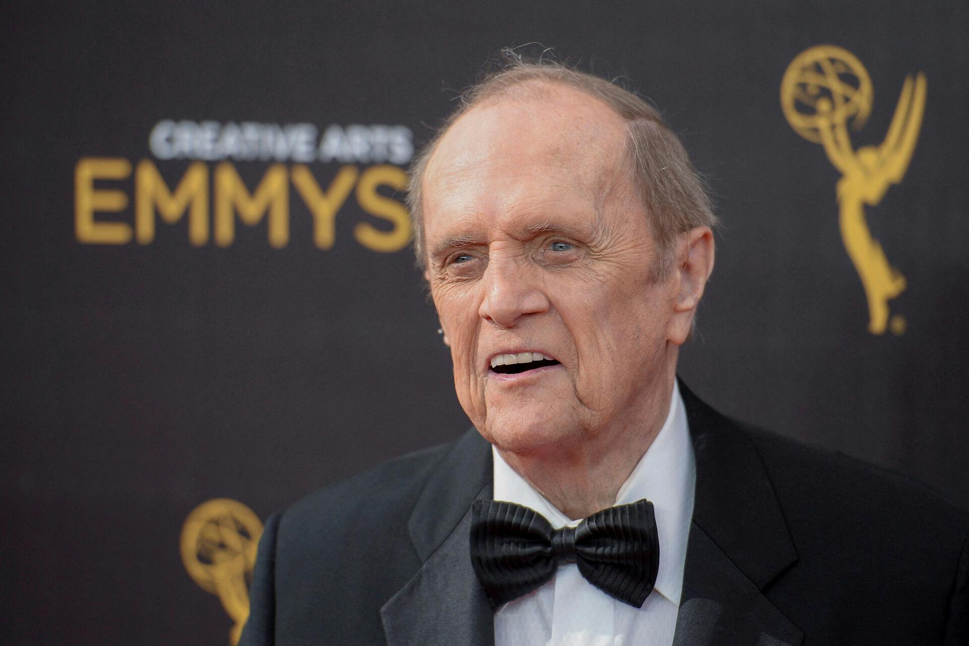
[[[693,329],[703,288],[713,271],[713,256],[713,231],[709,227],[697,227],[679,236],[672,271],[677,293],[670,321],[670,340],[677,346],[686,342]]]

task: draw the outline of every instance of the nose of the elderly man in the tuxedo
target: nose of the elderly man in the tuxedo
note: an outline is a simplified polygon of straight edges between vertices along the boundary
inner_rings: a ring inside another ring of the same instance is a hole
[[[499,327],[514,327],[525,315],[547,312],[548,296],[535,271],[520,259],[492,258],[485,270],[481,318]]]

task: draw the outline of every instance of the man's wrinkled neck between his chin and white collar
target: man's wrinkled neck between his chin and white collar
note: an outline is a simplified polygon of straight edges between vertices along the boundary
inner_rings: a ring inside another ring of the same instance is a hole
[[[672,376],[634,407],[636,415],[583,434],[570,446],[498,452],[555,508],[572,519],[615,504],[619,488],[659,434],[672,400]]]

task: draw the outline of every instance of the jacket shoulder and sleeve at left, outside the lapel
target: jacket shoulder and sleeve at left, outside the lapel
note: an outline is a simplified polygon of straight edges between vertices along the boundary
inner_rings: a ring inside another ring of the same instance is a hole
[[[381,606],[421,567],[408,519],[448,450],[393,459],[274,514],[247,631],[274,633],[275,643],[381,643]]]

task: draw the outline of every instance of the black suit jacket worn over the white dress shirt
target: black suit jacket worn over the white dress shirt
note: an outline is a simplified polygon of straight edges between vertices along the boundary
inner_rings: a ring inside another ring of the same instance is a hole
[[[681,390],[697,488],[675,645],[969,644],[965,512]],[[490,496],[472,429],[272,516],[242,646],[493,643],[468,553]]]

